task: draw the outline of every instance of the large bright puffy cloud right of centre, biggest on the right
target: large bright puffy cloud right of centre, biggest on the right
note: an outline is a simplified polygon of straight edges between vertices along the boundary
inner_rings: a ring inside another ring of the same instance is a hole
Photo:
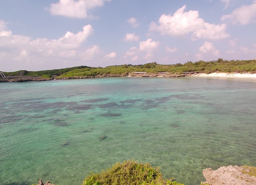
[[[192,40],[204,39],[225,39],[229,37],[226,33],[226,24],[215,25],[205,22],[199,18],[198,11],[184,12],[186,5],[177,10],[173,16],[163,14],[158,23],[151,22],[150,31],[160,32],[162,35],[181,36],[192,33]]]

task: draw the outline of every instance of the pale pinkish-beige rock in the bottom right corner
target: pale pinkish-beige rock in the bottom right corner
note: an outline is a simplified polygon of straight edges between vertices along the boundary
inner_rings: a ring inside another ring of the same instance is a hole
[[[206,181],[211,185],[256,185],[256,178],[249,174],[244,174],[246,171],[240,166],[222,166],[213,171],[212,168],[203,170],[203,175]]]

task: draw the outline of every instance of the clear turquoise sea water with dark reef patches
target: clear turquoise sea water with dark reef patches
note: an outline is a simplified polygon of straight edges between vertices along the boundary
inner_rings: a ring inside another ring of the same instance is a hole
[[[204,181],[207,167],[256,166],[256,79],[92,78],[0,90],[1,185],[78,185],[127,159],[186,184]]]

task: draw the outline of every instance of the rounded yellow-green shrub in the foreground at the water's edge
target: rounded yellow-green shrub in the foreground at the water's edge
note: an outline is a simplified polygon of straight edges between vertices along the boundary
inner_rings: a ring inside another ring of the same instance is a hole
[[[91,174],[84,180],[83,185],[89,181],[92,184],[99,182],[100,185],[184,185],[174,179],[164,180],[158,168],[134,160],[116,163],[99,174]]]

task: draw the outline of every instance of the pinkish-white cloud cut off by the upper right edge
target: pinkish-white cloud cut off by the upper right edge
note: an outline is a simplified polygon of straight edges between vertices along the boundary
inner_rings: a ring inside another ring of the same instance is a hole
[[[229,15],[223,15],[222,21],[230,20],[232,24],[247,25],[256,21],[256,1],[251,5],[242,5]]]

